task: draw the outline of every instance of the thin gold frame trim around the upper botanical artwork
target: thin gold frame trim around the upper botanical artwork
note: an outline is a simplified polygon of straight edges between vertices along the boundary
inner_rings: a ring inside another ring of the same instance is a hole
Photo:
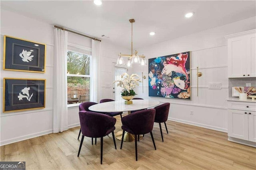
[[[17,40],[22,40],[22,41],[27,41],[27,42],[32,42],[32,43],[38,43],[38,44],[44,45],[44,71],[29,71],[29,70],[6,69],[6,68],[5,68],[6,37],[8,37],[8,38],[14,38],[14,39],[17,39]],[[6,36],[6,35],[4,35],[4,60],[3,60],[3,69],[4,69],[4,70],[9,70],[9,71],[24,71],[24,72],[33,72],[33,73],[45,73],[45,69],[46,69],[46,44],[45,44],[45,43],[34,42],[34,41],[22,39],[22,38],[17,38],[17,37],[12,37],[12,36]]]

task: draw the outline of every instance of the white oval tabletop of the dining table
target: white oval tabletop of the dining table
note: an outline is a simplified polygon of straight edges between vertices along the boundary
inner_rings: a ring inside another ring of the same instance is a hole
[[[96,112],[123,112],[147,109],[159,105],[155,100],[132,100],[131,105],[125,105],[124,100],[99,103],[89,107],[89,110]]]

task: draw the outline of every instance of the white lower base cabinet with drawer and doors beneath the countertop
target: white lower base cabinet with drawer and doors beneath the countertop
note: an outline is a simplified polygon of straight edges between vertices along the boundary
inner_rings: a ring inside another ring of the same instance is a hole
[[[256,103],[228,101],[228,136],[256,142]]]

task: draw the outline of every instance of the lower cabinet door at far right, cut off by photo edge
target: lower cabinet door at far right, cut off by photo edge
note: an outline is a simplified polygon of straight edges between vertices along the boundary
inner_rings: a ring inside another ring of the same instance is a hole
[[[249,140],[252,142],[256,142],[256,112],[249,111],[248,132],[249,132]]]

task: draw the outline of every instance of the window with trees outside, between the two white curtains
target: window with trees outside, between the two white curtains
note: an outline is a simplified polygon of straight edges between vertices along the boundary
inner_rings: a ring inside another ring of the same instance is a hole
[[[91,55],[89,53],[89,51],[68,46],[68,104],[90,101]]]

